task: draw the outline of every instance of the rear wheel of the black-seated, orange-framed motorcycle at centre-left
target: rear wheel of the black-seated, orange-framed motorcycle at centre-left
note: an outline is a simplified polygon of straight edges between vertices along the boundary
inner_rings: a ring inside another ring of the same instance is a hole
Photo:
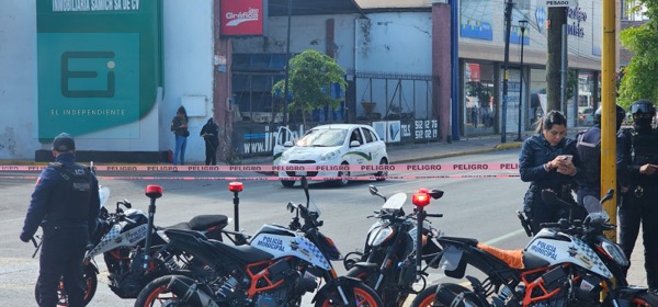
[[[137,299],[135,299],[135,307],[201,306],[198,302],[183,302],[182,299],[182,297],[189,295],[190,286],[195,283],[194,280],[183,275],[166,275],[155,278],[141,289]]]

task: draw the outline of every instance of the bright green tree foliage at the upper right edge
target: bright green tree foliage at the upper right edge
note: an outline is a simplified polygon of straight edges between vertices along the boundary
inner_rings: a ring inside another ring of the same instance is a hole
[[[658,0],[639,0],[649,20],[620,33],[622,45],[635,55],[624,69],[617,102],[628,107],[634,101],[658,101]]]

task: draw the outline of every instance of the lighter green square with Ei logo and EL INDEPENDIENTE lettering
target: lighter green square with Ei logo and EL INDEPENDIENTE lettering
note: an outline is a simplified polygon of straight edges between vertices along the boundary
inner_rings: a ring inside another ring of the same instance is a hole
[[[136,33],[42,33],[38,50],[39,137],[106,130],[137,137],[139,41]]]

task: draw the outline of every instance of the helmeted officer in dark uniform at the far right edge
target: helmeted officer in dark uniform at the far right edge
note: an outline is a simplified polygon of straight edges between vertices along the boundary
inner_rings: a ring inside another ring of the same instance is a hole
[[[631,105],[633,155],[631,189],[620,207],[620,243],[631,258],[642,221],[645,270],[649,289],[658,292],[658,130],[651,127],[656,107],[648,100]]]

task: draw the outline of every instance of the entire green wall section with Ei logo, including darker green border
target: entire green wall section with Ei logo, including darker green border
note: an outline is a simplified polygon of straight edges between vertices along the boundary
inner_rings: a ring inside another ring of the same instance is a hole
[[[37,0],[38,138],[140,137],[161,76],[160,1]]]

